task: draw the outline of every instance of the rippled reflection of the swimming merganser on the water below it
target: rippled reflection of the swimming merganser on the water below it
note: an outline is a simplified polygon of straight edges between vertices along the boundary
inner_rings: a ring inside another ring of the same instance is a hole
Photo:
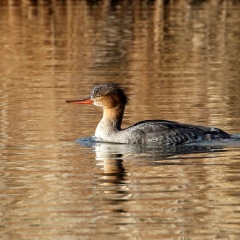
[[[173,155],[203,153],[211,151],[223,151],[219,146],[146,146],[134,144],[113,144],[95,142],[93,138],[79,139],[77,141],[82,146],[91,147],[96,153],[97,165],[101,166],[102,173],[98,178],[98,183],[109,201],[116,204],[131,198],[126,179],[130,172],[124,167],[126,161],[136,161],[137,164],[144,165],[165,165],[163,160],[169,159]],[[171,164],[168,162],[167,164]]]

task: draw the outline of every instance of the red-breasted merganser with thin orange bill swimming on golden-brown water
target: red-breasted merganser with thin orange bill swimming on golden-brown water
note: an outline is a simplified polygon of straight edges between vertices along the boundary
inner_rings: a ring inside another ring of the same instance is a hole
[[[146,120],[121,129],[128,97],[115,83],[96,85],[90,97],[67,103],[94,104],[103,108],[103,118],[95,131],[100,141],[129,144],[180,145],[202,140],[225,139],[231,135],[218,128],[180,124],[165,120]]]

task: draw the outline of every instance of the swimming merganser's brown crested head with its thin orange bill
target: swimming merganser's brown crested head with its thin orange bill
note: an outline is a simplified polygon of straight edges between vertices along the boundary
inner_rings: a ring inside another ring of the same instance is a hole
[[[67,103],[94,104],[106,109],[125,106],[128,102],[126,93],[116,83],[103,83],[96,85],[89,98],[82,100],[67,100]]]

